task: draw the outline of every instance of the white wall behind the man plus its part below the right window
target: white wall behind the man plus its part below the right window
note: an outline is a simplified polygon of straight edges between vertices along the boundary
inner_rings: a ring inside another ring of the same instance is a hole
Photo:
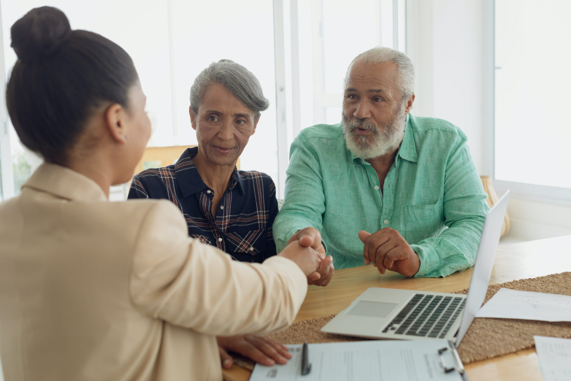
[[[412,113],[443,118],[468,137],[485,174],[484,0],[407,0],[407,53],[416,69]],[[505,242],[571,234],[571,207],[512,194]]]

